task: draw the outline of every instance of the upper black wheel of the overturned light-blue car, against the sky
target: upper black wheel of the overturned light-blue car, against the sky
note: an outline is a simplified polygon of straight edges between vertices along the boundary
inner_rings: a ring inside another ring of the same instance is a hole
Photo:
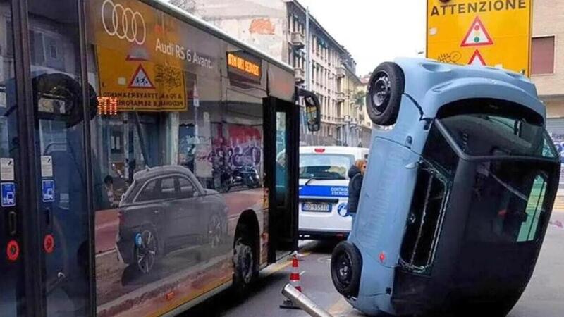
[[[398,119],[405,90],[405,75],[396,63],[381,63],[372,73],[366,95],[367,113],[376,125],[393,125]]]

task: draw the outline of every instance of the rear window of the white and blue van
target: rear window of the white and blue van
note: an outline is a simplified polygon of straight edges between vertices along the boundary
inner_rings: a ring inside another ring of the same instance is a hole
[[[300,178],[346,180],[355,156],[347,154],[301,154]]]

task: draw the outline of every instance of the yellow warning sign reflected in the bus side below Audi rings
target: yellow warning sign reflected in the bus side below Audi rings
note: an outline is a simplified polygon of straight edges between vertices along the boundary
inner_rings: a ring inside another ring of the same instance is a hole
[[[180,68],[131,58],[97,46],[100,95],[117,111],[184,111],[186,93]]]

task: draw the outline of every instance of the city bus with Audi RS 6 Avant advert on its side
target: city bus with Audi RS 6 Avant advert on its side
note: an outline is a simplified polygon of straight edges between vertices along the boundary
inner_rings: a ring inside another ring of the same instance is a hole
[[[174,315],[297,248],[293,68],[160,1],[0,13],[1,316]]]

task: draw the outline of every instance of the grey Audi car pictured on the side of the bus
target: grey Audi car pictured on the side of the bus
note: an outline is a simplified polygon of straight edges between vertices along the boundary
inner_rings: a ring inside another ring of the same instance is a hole
[[[227,212],[221,194],[204,189],[188,168],[147,168],[135,173],[119,205],[119,254],[149,273],[171,251],[216,249],[226,243]]]

